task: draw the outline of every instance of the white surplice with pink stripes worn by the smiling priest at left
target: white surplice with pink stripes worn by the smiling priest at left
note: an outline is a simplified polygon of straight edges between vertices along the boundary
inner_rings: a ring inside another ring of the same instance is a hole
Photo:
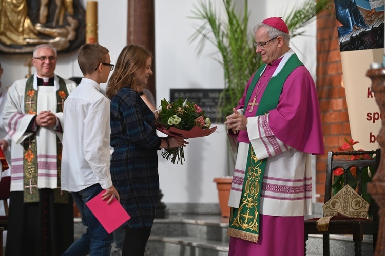
[[[17,80],[8,89],[8,101],[3,111],[3,121],[8,135],[12,138],[11,148],[11,191],[23,191],[23,142],[33,133],[26,132],[35,115],[25,112],[25,87],[27,79]],[[76,83],[64,79],[68,93],[76,87]],[[34,74],[33,88],[38,90],[37,114],[40,111],[51,111],[63,127],[63,112],[56,113],[56,91],[59,90],[59,78],[55,76],[54,86],[37,86]],[[67,95],[68,96],[68,95]],[[39,127],[36,132],[38,188],[57,188],[57,152],[56,137],[62,140],[63,134],[54,129]]]

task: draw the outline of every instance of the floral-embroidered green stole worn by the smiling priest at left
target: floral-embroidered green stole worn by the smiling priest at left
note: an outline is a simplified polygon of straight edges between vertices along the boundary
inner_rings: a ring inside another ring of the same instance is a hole
[[[33,77],[30,76],[27,79],[25,87],[25,113],[36,115],[37,114],[37,93],[38,91],[33,88]],[[68,96],[66,82],[63,78],[59,78],[59,90],[56,92],[57,100],[57,112],[63,112],[63,103]],[[36,133],[33,133],[30,137],[23,142],[23,166],[24,166],[24,203],[38,202],[39,190],[37,188],[37,145],[36,145]],[[61,176],[61,163],[62,163],[62,143],[56,136],[56,149],[57,149],[57,187],[54,190],[54,202],[55,203],[68,203],[68,192],[60,190],[60,176]]]

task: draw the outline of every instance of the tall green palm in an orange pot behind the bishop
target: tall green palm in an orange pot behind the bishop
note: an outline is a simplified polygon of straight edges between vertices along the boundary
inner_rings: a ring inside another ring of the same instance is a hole
[[[248,1],[244,0],[242,12],[236,10],[235,0],[222,0],[223,11],[218,12],[212,1],[199,0],[192,11],[190,18],[203,22],[196,28],[189,41],[198,41],[197,54],[201,55],[206,42],[216,46],[221,58],[216,59],[223,67],[224,88],[219,98],[217,108],[219,119],[233,113],[233,107],[238,105],[251,75],[262,65],[260,56],[255,53],[253,45],[254,35],[248,28],[249,10]],[[284,20],[290,31],[290,35],[301,35],[301,28],[312,22],[314,17],[322,10],[330,7],[331,0],[306,0],[297,8],[288,12]],[[237,5],[238,6],[238,5]],[[228,151],[230,152],[230,150]],[[228,173],[234,166],[235,157],[229,153]],[[231,176],[227,179],[218,178],[215,181],[219,189],[219,194],[224,194],[226,203],[224,205],[225,213],[222,210],[222,216],[228,217],[229,209],[226,208],[228,192],[224,188],[230,189]],[[221,195],[220,200],[221,200]]]

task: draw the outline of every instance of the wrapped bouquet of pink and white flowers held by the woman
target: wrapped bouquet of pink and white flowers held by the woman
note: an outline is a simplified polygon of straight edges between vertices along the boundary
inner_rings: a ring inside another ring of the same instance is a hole
[[[183,138],[197,138],[208,136],[217,127],[211,127],[210,119],[204,115],[204,110],[194,102],[187,99],[183,101],[181,97],[175,102],[166,99],[161,100],[161,106],[157,110],[158,118],[156,128],[164,134],[179,136]],[[162,153],[166,160],[175,161],[183,165],[183,147],[167,148]]]

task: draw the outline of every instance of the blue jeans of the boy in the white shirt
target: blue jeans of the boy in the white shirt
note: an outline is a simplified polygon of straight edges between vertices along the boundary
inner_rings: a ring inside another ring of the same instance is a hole
[[[87,231],[82,234],[79,239],[73,242],[73,244],[64,252],[63,256],[81,256],[87,254],[90,256],[110,256],[111,244],[114,240],[113,232],[108,234],[86,205],[86,202],[98,195],[102,190],[100,184],[97,183],[79,192],[71,192],[73,200],[82,215],[83,225],[87,227]]]

